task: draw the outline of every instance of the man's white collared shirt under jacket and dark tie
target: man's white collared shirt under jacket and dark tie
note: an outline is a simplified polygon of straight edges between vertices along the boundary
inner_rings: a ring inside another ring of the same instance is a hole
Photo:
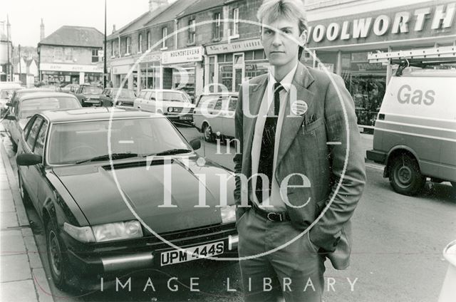
[[[274,140],[274,162],[273,162],[273,170],[272,170],[272,181],[271,184],[271,196],[267,197],[261,203],[261,207],[264,207],[267,211],[275,211],[275,212],[284,212],[286,211],[286,206],[284,201],[281,199],[280,196],[280,187],[279,183],[276,181],[276,164],[277,164],[277,153],[279,151],[279,143],[280,143],[280,134],[282,129],[282,124],[284,122],[284,115],[285,115],[285,108],[286,102],[289,101],[289,92],[291,83],[294,78],[294,74],[296,73],[296,69],[298,68],[298,64],[294,66],[291,71],[285,75],[285,77],[280,81],[281,85],[284,87],[279,93],[280,98],[280,108],[279,108],[279,116],[277,119],[277,126],[276,126],[276,136]],[[274,116],[274,83],[276,83],[276,79],[274,75],[272,75],[271,70],[269,70],[269,78],[266,90],[264,91],[263,99],[261,100],[261,105],[259,108],[259,113],[257,117],[257,123],[255,123],[254,129],[254,139],[252,142],[252,175],[258,173],[258,166],[259,166],[259,155],[261,152],[261,141],[263,140],[263,129],[264,123],[266,123],[267,116]],[[250,199],[259,204],[257,199],[257,194],[255,194],[257,188],[257,177],[252,177],[252,189],[250,191]],[[269,204],[269,205],[268,205]]]

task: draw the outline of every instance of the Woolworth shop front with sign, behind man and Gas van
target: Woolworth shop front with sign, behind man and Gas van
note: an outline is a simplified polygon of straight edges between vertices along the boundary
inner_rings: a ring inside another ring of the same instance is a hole
[[[358,125],[371,132],[393,68],[368,63],[368,53],[453,45],[455,8],[455,1],[426,1],[310,21],[307,46],[318,58],[311,65],[342,76]]]

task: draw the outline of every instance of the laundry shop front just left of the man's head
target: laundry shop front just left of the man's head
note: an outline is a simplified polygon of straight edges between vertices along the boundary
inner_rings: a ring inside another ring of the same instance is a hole
[[[206,53],[204,85],[208,92],[239,91],[243,80],[268,71],[260,38],[208,45]]]

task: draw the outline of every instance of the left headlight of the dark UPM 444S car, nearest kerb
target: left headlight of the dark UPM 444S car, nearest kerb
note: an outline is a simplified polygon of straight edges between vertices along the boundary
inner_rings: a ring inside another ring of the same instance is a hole
[[[98,226],[93,226],[92,229],[95,241],[97,242],[142,237],[141,224],[137,220],[100,224]]]

